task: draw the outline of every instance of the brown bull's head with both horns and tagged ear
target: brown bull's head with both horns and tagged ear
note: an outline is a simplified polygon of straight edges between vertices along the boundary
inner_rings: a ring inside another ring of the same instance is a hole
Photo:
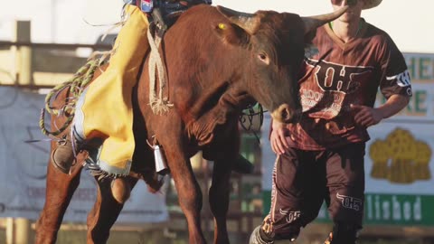
[[[231,26],[219,30],[224,41],[249,52],[249,73],[244,76],[248,80],[243,82],[248,84],[247,92],[268,108],[274,119],[294,122],[301,114],[297,75],[305,44],[317,27],[335,20],[347,7],[313,17],[273,11],[245,14],[217,8],[231,21]]]

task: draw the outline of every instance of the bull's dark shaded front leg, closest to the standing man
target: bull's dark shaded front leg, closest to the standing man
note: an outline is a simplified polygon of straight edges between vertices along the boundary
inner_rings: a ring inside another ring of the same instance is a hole
[[[229,208],[230,178],[231,166],[227,160],[215,160],[209,193],[210,207],[214,216],[214,243],[229,243],[226,215]]]

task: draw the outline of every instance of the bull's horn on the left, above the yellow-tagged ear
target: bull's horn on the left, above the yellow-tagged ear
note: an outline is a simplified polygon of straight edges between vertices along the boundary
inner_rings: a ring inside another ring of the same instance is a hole
[[[238,12],[221,5],[217,6],[217,10],[228,18],[231,23],[237,24],[247,33],[254,34],[259,29],[260,20],[256,14]]]

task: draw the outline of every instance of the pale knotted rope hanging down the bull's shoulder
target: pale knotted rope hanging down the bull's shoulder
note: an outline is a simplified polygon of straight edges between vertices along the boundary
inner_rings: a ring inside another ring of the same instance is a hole
[[[152,34],[150,25],[147,29],[147,40],[149,42],[149,46],[151,48],[151,52],[149,54],[149,105],[151,106],[152,111],[156,115],[163,114],[169,111],[170,108],[174,107],[167,97],[163,98],[163,91],[165,86],[167,85],[167,73],[165,71],[165,65],[163,64],[163,60],[160,56],[160,52],[158,52],[158,47],[161,43],[161,36],[156,33],[155,37]],[[158,97],[156,97],[156,70],[158,71],[158,80],[159,80],[159,90]]]

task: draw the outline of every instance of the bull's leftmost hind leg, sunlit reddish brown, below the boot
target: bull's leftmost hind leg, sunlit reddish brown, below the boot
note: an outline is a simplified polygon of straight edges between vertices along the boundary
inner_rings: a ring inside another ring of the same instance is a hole
[[[63,174],[54,168],[52,162],[48,164],[45,204],[39,220],[36,222],[35,243],[55,243],[57,232],[72,194],[80,183],[81,164],[75,164],[71,174]]]

